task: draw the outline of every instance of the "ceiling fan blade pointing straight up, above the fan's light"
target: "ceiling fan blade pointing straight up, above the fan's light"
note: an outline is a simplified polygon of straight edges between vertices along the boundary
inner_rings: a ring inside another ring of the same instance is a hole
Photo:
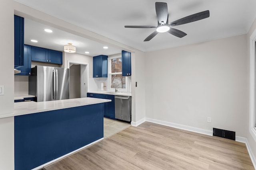
[[[159,23],[164,21],[164,24],[166,24],[168,18],[168,8],[165,2],[156,2],[156,16]]]

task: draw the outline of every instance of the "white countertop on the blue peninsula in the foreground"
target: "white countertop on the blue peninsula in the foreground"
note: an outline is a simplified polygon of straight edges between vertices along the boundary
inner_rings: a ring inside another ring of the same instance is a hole
[[[8,115],[0,115],[0,118],[39,113],[43,111],[66,109],[70,107],[86,106],[105,102],[111,102],[111,100],[98,98],[76,98],[47,102],[16,102],[14,103],[14,113]]]

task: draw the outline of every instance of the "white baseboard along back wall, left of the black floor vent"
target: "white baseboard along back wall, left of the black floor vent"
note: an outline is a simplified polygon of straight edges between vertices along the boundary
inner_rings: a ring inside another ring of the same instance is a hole
[[[183,129],[183,130],[186,130],[186,131],[192,131],[192,132],[212,136],[212,131],[205,130],[205,129],[200,129],[200,128],[197,128],[197,127],[191,127],[191,126],[187,126],[187,125],[181,125],[181,124],[177,124],[177,123],[171,123],[171,122],[167,122],[167,121],[161,121],[161,120],[150,119],[150,118],[146,118],[146,121],[149,121],[149,122],[152,122],[152,123],[157,123],[157,124],[160,124],[160,125],[175,127],[175,128],[178,128],[178,129]]]

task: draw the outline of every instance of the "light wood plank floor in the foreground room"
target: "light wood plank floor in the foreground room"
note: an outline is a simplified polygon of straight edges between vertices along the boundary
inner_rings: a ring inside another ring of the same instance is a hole
[[[244,143],[144,122],[46,170],[254,170]]]

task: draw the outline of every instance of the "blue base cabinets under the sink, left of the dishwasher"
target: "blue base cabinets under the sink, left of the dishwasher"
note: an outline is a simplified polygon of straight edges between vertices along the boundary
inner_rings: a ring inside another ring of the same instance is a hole
[[[115,118],[115,96],[114,95],[87,93],[87,97],[112,100],[111,102],[107,102],[107,103],[103,104],[103,114],[104,114],[104,117],[116,120],[116,118]]]

